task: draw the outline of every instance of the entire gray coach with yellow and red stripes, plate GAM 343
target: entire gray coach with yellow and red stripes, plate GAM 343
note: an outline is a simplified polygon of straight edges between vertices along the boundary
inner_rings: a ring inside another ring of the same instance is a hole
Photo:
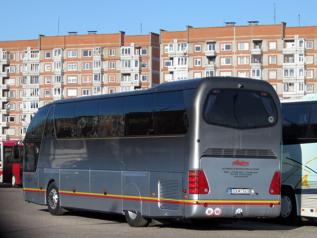
[[[132,227],[276,217],[281,135],[280,100],[261,80],[207,77],[62,99],[29,124],[24,198],[52,215],[124,214]]]

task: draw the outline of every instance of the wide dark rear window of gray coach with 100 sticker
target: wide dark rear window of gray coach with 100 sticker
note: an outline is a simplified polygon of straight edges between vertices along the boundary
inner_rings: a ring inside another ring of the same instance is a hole
[[[212,89],[204,103],[204,120],[236,129],[270,127],[277,111],[267,92],[247,89]]]

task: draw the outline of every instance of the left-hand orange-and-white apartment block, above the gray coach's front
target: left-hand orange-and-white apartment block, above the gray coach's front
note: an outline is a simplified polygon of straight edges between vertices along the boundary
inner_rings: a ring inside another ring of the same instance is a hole
[[[3,140],[23,139],[32,116],[63,98],[159,84],[159,34],[43,36],[0,42]]]

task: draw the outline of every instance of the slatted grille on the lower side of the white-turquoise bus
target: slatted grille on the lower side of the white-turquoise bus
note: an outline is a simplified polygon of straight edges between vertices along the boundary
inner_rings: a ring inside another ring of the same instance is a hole
[[[302,207],[317,208],[317,182],[302,183]]]

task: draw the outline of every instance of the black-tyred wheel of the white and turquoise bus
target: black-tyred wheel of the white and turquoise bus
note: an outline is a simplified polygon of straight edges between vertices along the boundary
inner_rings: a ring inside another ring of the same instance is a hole
[[[287,188],[281,190],[281,213],[277,218],[283,225],[298,225],[301,217],[297,215],[295,195]]]

